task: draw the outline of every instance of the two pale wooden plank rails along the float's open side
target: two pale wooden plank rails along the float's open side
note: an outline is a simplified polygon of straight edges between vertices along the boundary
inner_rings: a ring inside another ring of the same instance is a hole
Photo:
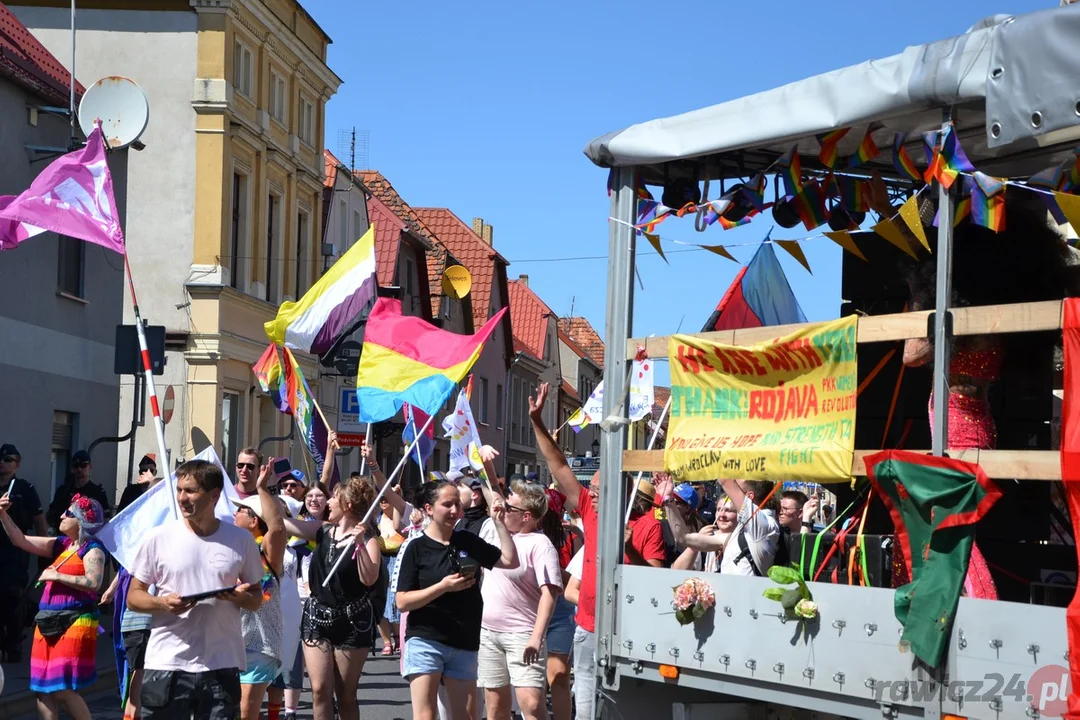
[[[1062,329],[1061,300],[1022,302],[980,308],[955,308],[953,335],[1002,335],[1005,332],[1042,332]],[[926,338],[930,312],[864,315],[859,318],[858,342],[894,342],[910,338]],[[768,342],[793,332],[798,325],[755,327],[742,330],[697,332],[691,337],[730,345],[753,345]],[[639,347],[654,358],[667,358],[667,337],[631,338],[626,341],[626,357],[637,354]],[[858,419],[856,419],[858,422]],[[915,450],[930,452],[929,450]],[[855,450],[852,473],[865,475],[863,459],[878,450]],[[955,450],[949,457],[982,466],[989,477],[1017,480],[1059,480],[1061,456],[1057,450]],[[623,472],[659,472],[664,466],[663,450],[624,450]]]

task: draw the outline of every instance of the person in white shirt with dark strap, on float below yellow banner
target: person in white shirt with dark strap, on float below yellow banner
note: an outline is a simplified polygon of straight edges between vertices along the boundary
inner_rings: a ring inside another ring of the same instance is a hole
[[[777,557],[780,525],[770,507],[755,501],[769,497],[772,483],[764,480],[720,480],[739,514],[735,530],[724,546],[720,572],[751,578],[767,575]]]

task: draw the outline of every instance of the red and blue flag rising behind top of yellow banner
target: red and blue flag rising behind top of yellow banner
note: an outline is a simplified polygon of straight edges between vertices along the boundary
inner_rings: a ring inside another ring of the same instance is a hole
[[[806,315],[787,283],[772,243],[764,242],[750,263],[735,275],[702,331],[805,322]]]

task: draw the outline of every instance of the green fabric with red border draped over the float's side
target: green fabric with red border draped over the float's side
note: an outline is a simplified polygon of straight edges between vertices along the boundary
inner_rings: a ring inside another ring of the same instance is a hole
[[[1001,490],[978,465],[950,458],[886,450],[866,458],[866,476],[885,501],[912,582],[896,588],[901,641],[937,667],[968,573],[975,522]]]

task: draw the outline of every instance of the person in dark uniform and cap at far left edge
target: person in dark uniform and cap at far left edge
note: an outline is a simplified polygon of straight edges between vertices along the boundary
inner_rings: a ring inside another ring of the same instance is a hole
[[[44,536],[49,529],[38,491],[28,480],[15,476],[22,461],[14,445],[0,445],[0,495],[11,501],[8,515],[23,534],[33,530],[32,534]],[[29,569],[29,554],[0,533],[0,662],[3,663],[23,661],[22,604],[30,582]]]

